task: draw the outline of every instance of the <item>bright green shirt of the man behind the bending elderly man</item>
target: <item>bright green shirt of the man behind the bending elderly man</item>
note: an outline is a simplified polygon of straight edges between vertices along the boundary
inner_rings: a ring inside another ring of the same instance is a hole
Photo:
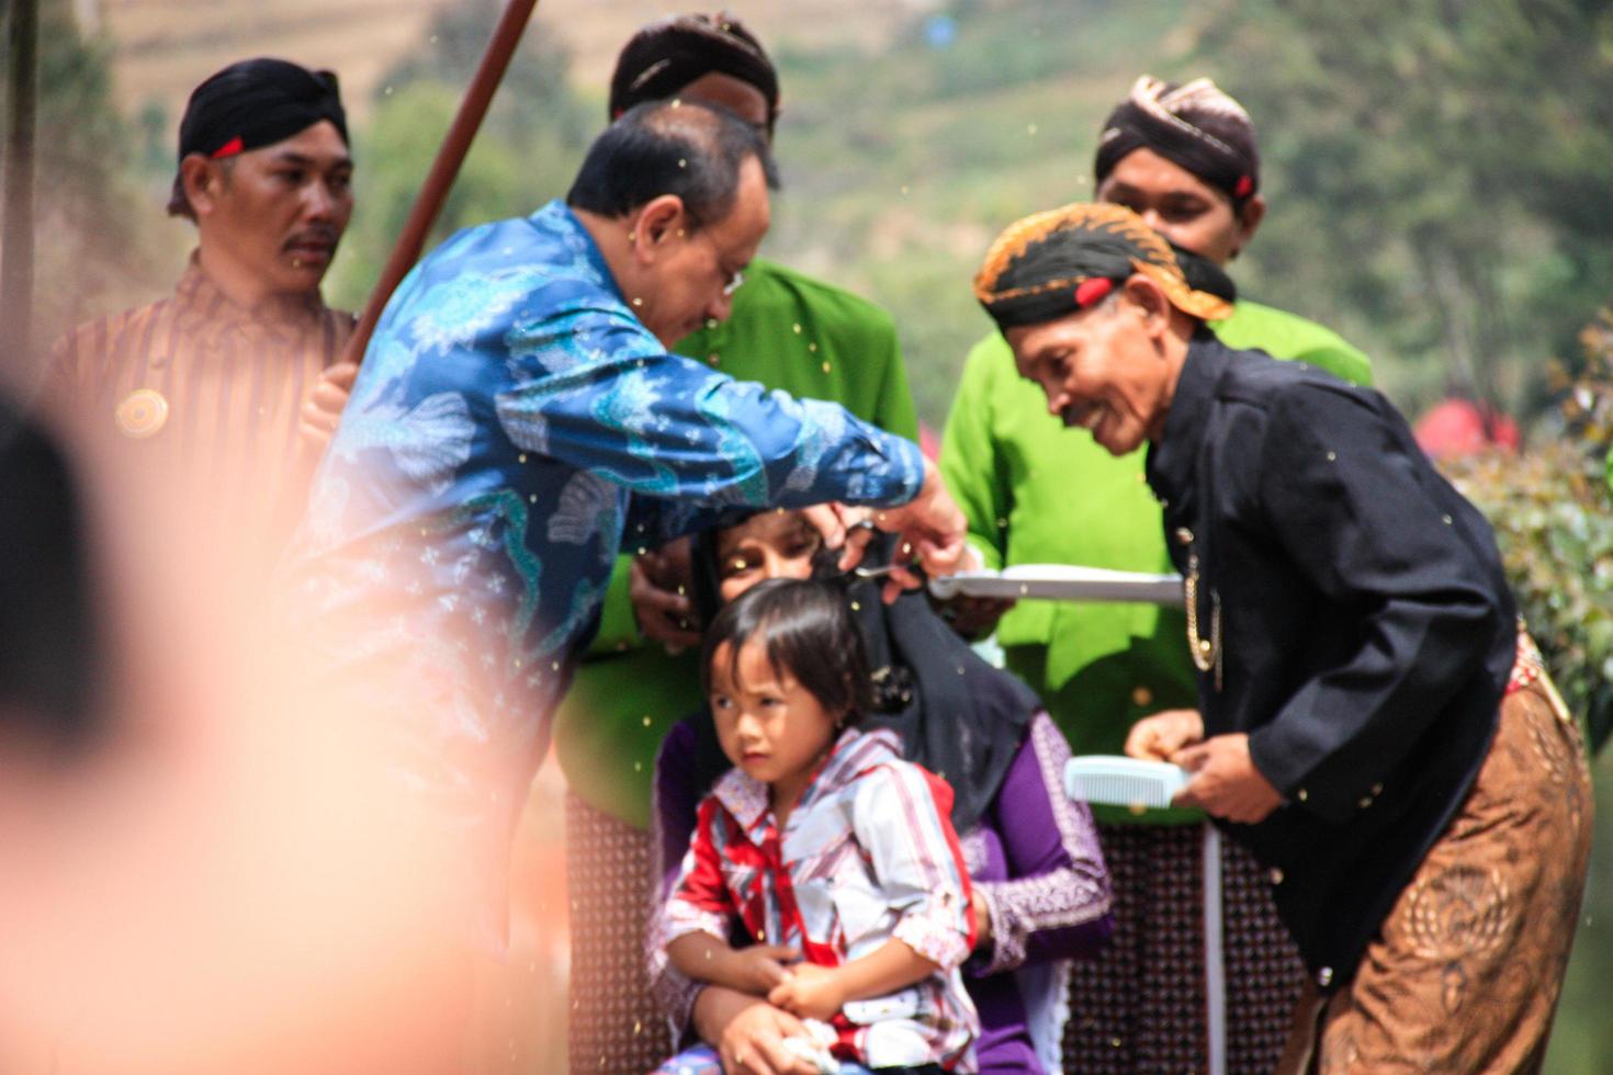
[[[1211,322],[1232,348],[1307,361],[1355,384],[1371,363],[1303,318],[1239,301]],[[969,519],[987,567],[1084,564],[1168,572],[1160,506],[1144,480],[1147,448],[1115,458],[1090,434],[1047,413],[1042,388],[1019,377],[1002,335],[965,363],[942,440],[940,472]],[[1179,609],[1155,604],[1021,601],[997,627],[1007,666],[1047,703],[1076,754],[1118,754],[1140,717],[1195,708],[1194,669]],[[1098,807],[1100,820],[1127,814]],[[1152,811],[1184,822],[1195,811]]]

